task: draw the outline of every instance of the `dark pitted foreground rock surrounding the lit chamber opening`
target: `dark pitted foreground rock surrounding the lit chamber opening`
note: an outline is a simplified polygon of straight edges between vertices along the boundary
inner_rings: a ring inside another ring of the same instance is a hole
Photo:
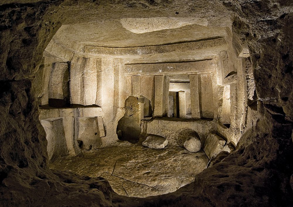
[[[257,112],[248,114],[251,127],[234,152],[170,194],[119,196],[105,179],[48,168],[45,131],[30,78],[64,19],[74,18],[75,9],[94,11],[99,4],[103,3],[1,2],[1,206],[292,206],[292,1],[105,3],[105,8],[121,4],[135,13],[155,7],[177,11],[184,5],[180,15],[199,11],[215,15],[214,21],[229,13],[235,45],[248,44],[251,54]]]

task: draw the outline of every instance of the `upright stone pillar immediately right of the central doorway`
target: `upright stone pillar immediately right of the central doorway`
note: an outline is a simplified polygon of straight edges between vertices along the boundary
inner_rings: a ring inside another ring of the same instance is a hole
[[[191,118],[200,119],[200,99],[198,93],[198,75],[189,75]]]

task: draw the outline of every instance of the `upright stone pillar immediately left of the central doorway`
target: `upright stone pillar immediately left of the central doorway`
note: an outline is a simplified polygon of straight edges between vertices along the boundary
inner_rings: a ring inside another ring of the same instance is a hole
[[[165,111],[163,88],[164,88],[164,76],[154,76],[155,85],[155,104],[154,104],[154,117],[162,117]]]

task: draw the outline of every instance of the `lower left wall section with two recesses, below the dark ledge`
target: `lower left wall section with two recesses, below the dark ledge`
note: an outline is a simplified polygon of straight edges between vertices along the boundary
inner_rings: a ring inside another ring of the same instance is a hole
[[[49,158],[79,154],[78,140],[83,141],[82,148],[99,148],[101,137],[105,136],[102,115],[102,109],[94,106],[40,107],[39,119],[47,133]]]

